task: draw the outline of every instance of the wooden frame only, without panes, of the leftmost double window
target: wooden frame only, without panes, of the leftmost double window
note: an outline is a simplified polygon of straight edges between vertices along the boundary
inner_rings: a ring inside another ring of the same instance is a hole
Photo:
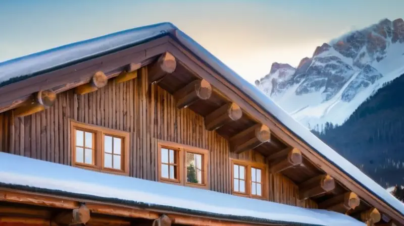
[[[86,164],[76,162],[76,133],[75,131],[81,130],[85,132],[93,133],[93,163]],[[121,144],[121,169],[108,168],[104,166],[104,135],[118,137],[122,139]],[[70,120],[70,136],[71,136],[71,158],[72,165],[86,170],[99,171],[104,173],[118,174],[129,176],[129,141],[130,135],[128,132],[105,128],[101,126],[95,126],[91,124],[81,123],[74,120]]]

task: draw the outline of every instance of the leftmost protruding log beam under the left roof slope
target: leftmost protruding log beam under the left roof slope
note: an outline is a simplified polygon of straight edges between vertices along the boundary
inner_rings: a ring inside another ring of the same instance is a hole
[[[41,90],[14,110],[14,117],[32,115],[45,108],[51,107],[56,101],[56,93],[52,90]]]

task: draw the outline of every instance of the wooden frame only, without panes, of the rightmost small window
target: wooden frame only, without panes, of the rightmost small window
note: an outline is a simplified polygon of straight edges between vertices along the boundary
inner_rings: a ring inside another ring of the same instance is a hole
[[[231,162],[231,192],[233,195],[256,198],[256,199],[268,199],[268,181],[267,178],[267,165],[261,162],[230,159]],[[245,193],[234,191],[234,164],[242,165],[245,167]],[[251,168],[257,168],[261,170],[261,196],[251,194]]]

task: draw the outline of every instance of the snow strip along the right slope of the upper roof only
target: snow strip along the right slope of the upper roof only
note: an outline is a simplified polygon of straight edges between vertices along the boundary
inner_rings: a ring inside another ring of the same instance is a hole
[[[361,172],[358,167],[350,163],[335,150],[316,137],[306,127],[294,120],[284,109],[272,101],[260,89],[247,82],[244,78],[231,70],[227,65],[221,62],[212,53],[210,53],[207,49],[198,44],[181,30],[176,30],[175,36],[181,44],[197,55],[197,57],[199,57],[201,60],[210,65],[231,84],[238,87],[242,92],[250,97],[251,100],[255,101],[259,106],[265,109],[270,115],[274,116],[275,119],[277,119],[283,126],[288,128],[295,136],[304,141],[313,150],[319,153],[327,161],[331,162],[334,166],[339,168],[339,170],[344,172],[351,179],[361,184],[376,197],[383,200],[397,212],[401,213],[401,215],[404,215],[404,203],[388,193],[383,187]]]

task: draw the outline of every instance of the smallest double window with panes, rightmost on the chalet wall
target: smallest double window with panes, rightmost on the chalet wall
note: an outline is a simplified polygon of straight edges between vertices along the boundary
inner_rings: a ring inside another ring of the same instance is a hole
[[[266,198],[265,164],[232,159],[233,194]]]

